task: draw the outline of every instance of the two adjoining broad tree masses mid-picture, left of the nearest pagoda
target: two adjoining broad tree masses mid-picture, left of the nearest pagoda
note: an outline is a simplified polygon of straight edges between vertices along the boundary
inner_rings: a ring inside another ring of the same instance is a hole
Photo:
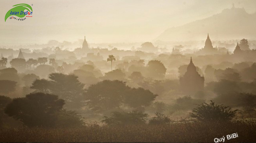
[[[35,93],[58,95],[72,109],[88,105],[94,111],[106,111],[123,104],[131,108],[144,108],[157,96],[149,90],[131,88],[125,82],[117,80],[104,80],[84,89],[84,84],[73,74],[52,73],[48,78],[50,80],[36,79],[31,89],[35,89]]]

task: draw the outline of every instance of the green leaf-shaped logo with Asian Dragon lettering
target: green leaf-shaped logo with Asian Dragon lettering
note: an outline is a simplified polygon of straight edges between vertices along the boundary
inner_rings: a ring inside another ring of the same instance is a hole
[[[12,16],[12,15],[15,15],[17,17],[25,17],[26,15],[31,15],[32,14],[32,7],[28,4],[25,4],[25,3],[21,3],[21,4],[17,4],[17,5],[14,5],[13,6],[14,8],[10,9],[6,15],[5,15],[5,22],[6,22],[6,19],[9,17],[9,16]],[[28,10],[26,12],[24,12],[24,10]]]

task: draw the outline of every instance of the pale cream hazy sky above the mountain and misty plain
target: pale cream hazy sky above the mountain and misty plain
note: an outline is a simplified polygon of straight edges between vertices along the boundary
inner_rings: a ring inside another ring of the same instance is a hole
[[[24,21],[5,14],[19,0],[0,1],[0,45],[42,44],[86,39],[89,43],[152,41],[165,29],[244,7],[256,12],[256,0],[24,0],[33,17]]]

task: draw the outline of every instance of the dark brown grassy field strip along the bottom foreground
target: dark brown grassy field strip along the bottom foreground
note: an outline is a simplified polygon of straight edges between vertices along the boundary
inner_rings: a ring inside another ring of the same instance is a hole
[[[0,130],[0,142],[214,142],[237,133],[225,142],[255,142],[256,124],[174,123],[170,125],[99,126],[80,128],[11,128]]]

